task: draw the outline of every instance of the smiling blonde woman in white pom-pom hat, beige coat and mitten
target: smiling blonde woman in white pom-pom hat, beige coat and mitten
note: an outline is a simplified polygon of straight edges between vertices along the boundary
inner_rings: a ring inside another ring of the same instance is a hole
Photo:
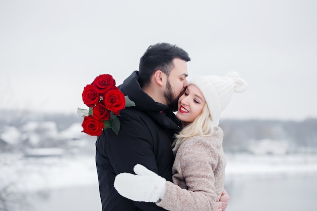
[[[176,116],[184,128],[173,143],[173,183],[137,164],[136,175],[116,176],[118,193],[167,210],[214,210],[224,188],[226,165],[219,117],[232,92],[244,92],[247,86],[236,72],[191,80],[178,101]]]

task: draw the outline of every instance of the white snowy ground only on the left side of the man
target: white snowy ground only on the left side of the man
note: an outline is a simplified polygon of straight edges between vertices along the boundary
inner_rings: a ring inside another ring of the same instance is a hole
[[[0,154],[0,181],[15,191],[40,191],[98,183],[94,156],[24,157]]]

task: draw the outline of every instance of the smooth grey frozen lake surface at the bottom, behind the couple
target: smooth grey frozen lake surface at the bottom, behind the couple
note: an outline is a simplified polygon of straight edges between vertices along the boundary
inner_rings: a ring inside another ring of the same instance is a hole
[[[317,177],[235,179],[226,183],[230,194],[227,211],[316,210]],[[51,190],[33,196],[25,211],[101,210],[98,185]]]

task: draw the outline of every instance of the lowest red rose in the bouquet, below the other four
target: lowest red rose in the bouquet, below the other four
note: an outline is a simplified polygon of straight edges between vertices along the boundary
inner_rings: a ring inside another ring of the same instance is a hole
[[[82,126],[84,129],[82,133],[84,132],[91,136],[100,136],[104,128],[102,121],[94,119],[92,115],[84,117]]]

